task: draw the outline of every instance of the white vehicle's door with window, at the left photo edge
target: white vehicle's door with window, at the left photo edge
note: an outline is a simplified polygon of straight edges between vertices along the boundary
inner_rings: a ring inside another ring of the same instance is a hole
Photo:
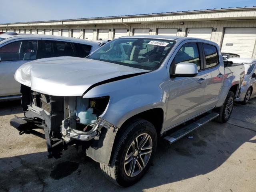
[[[14,74],[22,64],[37,58],[38,40],[19,39],[0,45],[0,96],[20,94]]]

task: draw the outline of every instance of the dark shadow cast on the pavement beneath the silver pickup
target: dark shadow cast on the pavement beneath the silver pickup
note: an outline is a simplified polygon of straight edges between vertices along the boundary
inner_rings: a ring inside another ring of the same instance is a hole
[[[235,111],[241,110],[240,105]],[[243,107],[244,108],[244,107]],[[256,109],[251,119],[256,119]],[[234,117],[236,118],[236,116]],[[240,115],[240,119],[246,114]],[[255,125],[254,125],[255,127]],[[100,166],[70,147],[62,158],[46,159],[46,152],[0,158],[0,191],[142,191],[212,172],[245,142],[255,143],[256,129],[210,122],[166,146],[160,141],[148,173],[134,186],[120,188],[109,182]],[[42,141],[38,141],[42,143]],[[36,144],[35,144],[36,145]],[[238,164],[239,159],[237,160]],[[211,178],[205,178],[206,181]]]

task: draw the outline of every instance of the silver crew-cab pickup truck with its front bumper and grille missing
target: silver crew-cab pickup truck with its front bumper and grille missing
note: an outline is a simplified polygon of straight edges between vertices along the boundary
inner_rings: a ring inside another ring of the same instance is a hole
[[[148,170],[160,137],[173,143],[210,120],[226,122],[243,78],[244,66],[224,63],[214,42],[126,36],[87,58],[18,68],[24,116],[10,124],[45,138],[49,158],[82,146],[108,179],[130,186]]]

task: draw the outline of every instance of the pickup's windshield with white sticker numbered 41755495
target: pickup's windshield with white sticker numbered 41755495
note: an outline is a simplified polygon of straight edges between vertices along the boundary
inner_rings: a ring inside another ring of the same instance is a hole
[[[170,52],[174,41],[150,38],[118,38],[110,41],[88,58],[156,70]]]

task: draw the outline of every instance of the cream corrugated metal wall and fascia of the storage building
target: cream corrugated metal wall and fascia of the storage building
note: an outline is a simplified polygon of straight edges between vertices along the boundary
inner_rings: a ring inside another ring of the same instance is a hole
[[[234,18],[234,20],[226,21],[206,21],[206,18]],[[242,20],[242,18],[248,17],[248,20]],[[176,14],[172,16],[145,16],[145,17],[134,17],[134,18],[109,18],[99,20],[78,20],[78,21],[65,21],[65,22],[47,22],[47,23],[33,23],[33,26],[28,24],[13,24],[9,30],[15,30],[20,33],[25,32],[36,32],[38,34],[57,34],[69,37],[78,37],[88,40],[98,40],[99,31],[109,30],[108,39],[112,40],[115,37],[115,30],[120,31],[125,29],[127,35],[134,35],[134,31],[141,31],[138,29],[149,30],[150,35],[156,35],[158,30],[161,29],[177,29],[177,36],[187,36],[188,31],[192,29],[201,28],[202,31],[208,31],[207,38],[211,41],[216,42],[220,47],[222,46],[222,40],[224,38],[225,28],[256,28],[256,20],[251,19],[256,17],[255,10],[248,11],[230,11],[230,12],[212,12],[212,13],[189,13],[189,14]],[[173,20],[174,22],[170,22]],[[182,22],[182,20],[186,20]],[[189,20],[200,20],[200,21],[189,21]],[[204,21],[205,20],[205,21]],[[169,21],[169,22],[168,22]],[[176,22],[175,22],[176,21]],[[122,24],[126,23],[125,24]],[[142,23],[139,23],[142,22]],[[182,23],[181,23],[182,22]],[[91,23],[91,24],[90,24]],[[109,23],[109,24],[108,24]],[[72,24],[72,25],[71,25]],[[44,25],[44,26],[42,26]],[[68,25],[68,26],[67,26]],[[208,29],[207,29],[208,28]],[[209,29],[212,29],[209,31]],[[0,31],[6,31],[6,28],[1,27]],[[77,34],[74,35],[72,31]],[[194,30],[200,31],[200,30]],[[56,33],[55,33],[56,32]],[[80,34],[79,34],[80,32]],[[194,32],[195,35],[196,32]],[[210,33],[210,34],[209,34]],[[188,36],[192,36],[189,34]],[[200,34],[199,36],[200,37]],[[201,37],[203,38],[203,36]],[[254,50],[252,57],[256,58],[256,47],[254,43]]]

